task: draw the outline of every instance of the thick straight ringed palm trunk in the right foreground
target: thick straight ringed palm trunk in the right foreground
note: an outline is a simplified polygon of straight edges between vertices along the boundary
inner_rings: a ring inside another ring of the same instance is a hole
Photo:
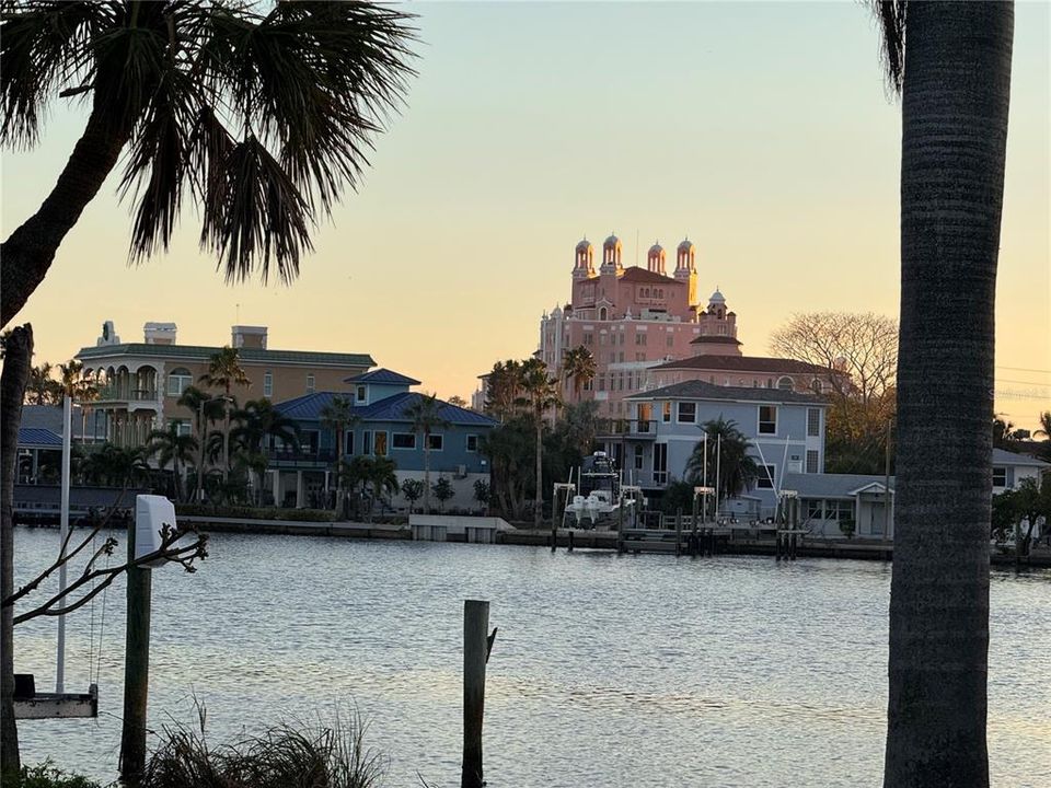
[[[994,297],[1014,8],[908,5],[885,788],[989,785]]]

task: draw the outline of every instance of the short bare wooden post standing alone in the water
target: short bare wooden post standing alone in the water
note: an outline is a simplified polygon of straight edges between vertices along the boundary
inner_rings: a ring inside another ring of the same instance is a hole
[[[461,788],[482,788],[482,721],[485,715],[485,661],[488,657],[489,603],[463,603],[463,766]]]

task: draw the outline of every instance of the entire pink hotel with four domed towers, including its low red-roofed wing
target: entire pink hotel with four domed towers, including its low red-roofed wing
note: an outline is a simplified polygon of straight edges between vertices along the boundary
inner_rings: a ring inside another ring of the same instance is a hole
[[[594,357],[594,380],[581,398],[600,404],[599,415],[633,418],[624,397],[686,380],[728,386],[821,390],[828,370],[821,367],[741,352],[737,315],[718,290],[707,304],[697,299],[696,247],[686,239],[675,248],[669,276],[666,254],[655,243],[646,267],[625,268],[621,241],[602,243],[602,260],[585,239],[576,246],[570,303],[540,321],[539,357],[562,374],[566,350],[584,346]],[[574,391],[565,382],[566,402]]]

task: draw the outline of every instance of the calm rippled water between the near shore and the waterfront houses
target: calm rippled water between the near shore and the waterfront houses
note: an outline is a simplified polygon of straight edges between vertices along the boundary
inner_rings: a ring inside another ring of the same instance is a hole
[[[16,531],[22,577],[57,549]],[[196,575],[153,572],[150,718],[207,706],[212,742],[357,706],[385,785],[459,784],[462,600],[492,601],[490,786],[875,786],[889,566],[487,545],[216,535]],[[100,634],[101,601],[94,631]],[[990,755],[998,786],[1051,785],[1051,572],[994,573]],[[92,611],[69,621],[86,687]],[[16,629],[53,682],[55,623]],[[99,659],[99,649],[94,649]],[[23,757],[115,776],[124,587],[102,631],[102,716],[22,722]]]

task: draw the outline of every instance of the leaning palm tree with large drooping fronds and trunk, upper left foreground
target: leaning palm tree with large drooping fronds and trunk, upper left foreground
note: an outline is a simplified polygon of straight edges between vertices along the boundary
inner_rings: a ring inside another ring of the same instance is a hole
[[[168,250],[190,195],[228,279],[266,279],[272,264],[293,279],[311,228],[357,185],[404,96],[408,19],[369,2],[5,5],[0,142],[35,143],[56,95],[90,94],[91,112],[51,193],[0,250],[0,325],[122,153],[132,258]]]

